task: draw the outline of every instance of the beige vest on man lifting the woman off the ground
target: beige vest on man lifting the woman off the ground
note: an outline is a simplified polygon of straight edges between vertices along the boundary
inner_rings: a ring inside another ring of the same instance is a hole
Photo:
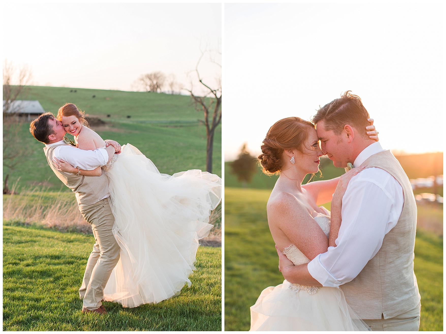
[[[104,196],[108,194],[108,178],[105,173],[101,176],[83,176],[76,174],[66,174],[59,172],[53,165],[54,149],[58,146],[66,145],[54,145],[47,147],[45,151],[46,160],[53,169],[54,174],[73,192],[76,194],[76,200],[78,205],[90,205],[99,202]]]

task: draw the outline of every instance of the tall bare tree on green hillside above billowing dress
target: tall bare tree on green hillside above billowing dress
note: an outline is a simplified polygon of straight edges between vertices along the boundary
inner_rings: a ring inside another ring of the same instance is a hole
[[[215,88],[211,88],[211,85],[203,82],[203,78],[198,72],[198,65],[200,65],[200,62],[206,52],[208,52],[208,50],[201,50],[201,56],[200,58],[198,58],[197,65],[195,66],[195,73],[197,74],[198,82],[200,82],[202,88],[204,88],[205,94],[203,96],[198,96],[192,92],[192,88],[190,90],[186,90],[190,93],[197,111],[201,110],[204,113],[204,120],[200,121],[206,126],[206,171],[212,173],[212,151],[214,145],[214,134],[215,129],[220,124],[220,121],[222,119],[222,85],[221,74],[219,78],[217,78]],[[215,62],[213,59],[211,59],[211,61]],[[219,62],[215,62],[215,64],[217,64],[221,69],[221,64]]]

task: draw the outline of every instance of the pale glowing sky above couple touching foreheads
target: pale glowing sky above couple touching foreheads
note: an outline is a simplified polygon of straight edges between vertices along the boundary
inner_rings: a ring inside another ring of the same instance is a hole
[[[359,95],[384,148],[443,151],[441,4],[225,4],[224,154]]]

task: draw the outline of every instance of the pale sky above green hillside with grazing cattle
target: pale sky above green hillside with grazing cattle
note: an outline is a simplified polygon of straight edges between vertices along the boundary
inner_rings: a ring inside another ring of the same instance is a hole
[[[3,59],[31,66],[40,86],[131,90],[141,74],[159,70],[189,88],[186,73],[195,69],[200,41],[221,51],[221,7],[2,4]],[[206,56],[199,70],[213,83],[221,68]]]

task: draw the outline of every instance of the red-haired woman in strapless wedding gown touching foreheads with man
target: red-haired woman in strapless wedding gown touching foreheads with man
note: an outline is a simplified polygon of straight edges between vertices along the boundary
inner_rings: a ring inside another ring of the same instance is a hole
[[[369,122],[373,124],[373,120]],[[377,140],[374,130],[372,125],[368,134]],[[336,246],[334,240],[340,227],[330,229],[330,211],[320,205],[339,201],[348,181],[364,167],[353,168],[332,180],[301,185],[306,174],[318,172],[322,151],[314,124],[299,117],[277,121],[261,149],[259,161],[264,173],[280,173],[267,204],[268,225],[276,248],[294,265],[308,263],[326,252],[327,247]],[[331,209],[331,215],[340,217],[340,208],[333,205]],[[338,288],[284,280],[264,289],[250,309],[251,331],[370,330]]]

